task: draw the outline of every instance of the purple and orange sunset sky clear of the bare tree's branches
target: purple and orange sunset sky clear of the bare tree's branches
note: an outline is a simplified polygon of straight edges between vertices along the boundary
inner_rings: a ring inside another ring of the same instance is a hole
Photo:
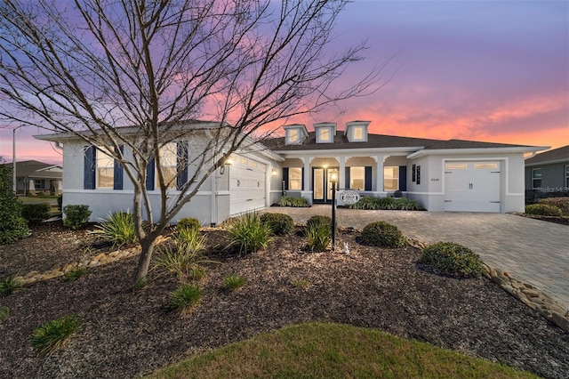
[[[339,85],[387,62],[381,88],[287,124],[368,120],[370,133],[569,144],[569,1],[355,0],[332,47],[365,40],[367,59]],[[16,160],[60,164],[34,133],[16,131]],[[12,130],[0,129],[0,157],[12,161]]]

